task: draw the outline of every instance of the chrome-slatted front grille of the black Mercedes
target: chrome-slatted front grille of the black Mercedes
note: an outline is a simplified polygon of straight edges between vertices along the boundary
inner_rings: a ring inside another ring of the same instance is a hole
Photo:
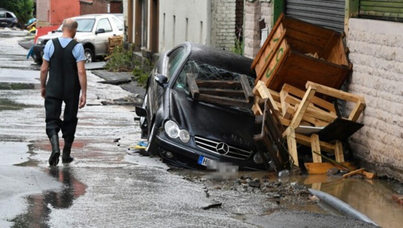
[[[221,142],[216,141],[216,140],[212,140],[212,139],[206,139],[203,137],[199,137],[199,136],[194,136],[194,142],[196,143],[196,145],[202,149],[208,150],[210,152],[219,154],[221,156],[224,157],[230,157],[230,158],[236,158],[236,159],[241,159],[241,160],[246,160],[253,151],[248,151],[248,150],[244,150],[244,149],[240,149],[231,145],[228,145],[228,153],[227,154],[220,154],[219,152],[217,152],[217,145]]]

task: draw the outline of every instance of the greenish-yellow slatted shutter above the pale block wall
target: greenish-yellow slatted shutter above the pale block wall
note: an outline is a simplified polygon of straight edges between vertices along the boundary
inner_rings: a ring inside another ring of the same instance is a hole
[[[403,0],[360,0],[360,17],[403,21]]]

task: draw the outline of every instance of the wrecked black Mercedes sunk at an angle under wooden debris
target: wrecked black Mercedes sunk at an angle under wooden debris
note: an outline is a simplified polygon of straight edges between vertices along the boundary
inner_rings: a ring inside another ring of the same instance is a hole
[[[149,76],[143,106],[136,107],[147,151],[179,166],[203,168],[218,161],[264,168],[253,142],[251,109],[195,100],[187,82],[189,74],[212,82],[245,75],[252,86],[256,76],[251,63],[244,56],[189,42],[163,53]]]

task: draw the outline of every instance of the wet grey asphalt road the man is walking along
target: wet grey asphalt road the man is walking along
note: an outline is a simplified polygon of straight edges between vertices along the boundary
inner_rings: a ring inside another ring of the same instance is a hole
[[[12,35],[10,35],[10,33]],[[140,140],[131,106],[101,106],[128,95],[88,72],[90,104],[79,110],[72,155],[49,167],[38,66],[0,30],[0,227],[340,227],[363,223],[279,211],[265,195],[210,191],[167,171],[157,158],[127,155]],[[16,38],[17,36],[17,38]],[[119,145],[113,142],[120,138]],[[62,142],[61,145],[62,146]],[[203,207],[222,202],[221,208]],[[272,213],[274,211],[274,213]]]

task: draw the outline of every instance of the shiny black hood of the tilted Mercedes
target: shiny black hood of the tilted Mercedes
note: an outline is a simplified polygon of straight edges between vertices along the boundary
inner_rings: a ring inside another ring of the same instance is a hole
[[[225,142],[254,150],[254,116],[231,107],[193,101],[186,93],[171,89],[170,118],[191,136]]]

